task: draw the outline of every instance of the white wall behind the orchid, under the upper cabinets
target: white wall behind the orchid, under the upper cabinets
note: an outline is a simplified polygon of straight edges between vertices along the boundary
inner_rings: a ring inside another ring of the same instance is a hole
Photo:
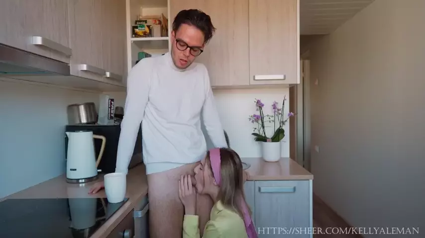
[[[248,121],[249,115],[258,113],[255,111],[255,99],[261,99],[265,104],[266,114],[272,114],[271,105],[277,101],[282,105],[283,97],[286,95],[284,115],[289,113],[289,88],[268,88],[268,89],[226,89],[215,90],[214,98],[221,123],[230,140],[230,146],[240,157],[261,157],[259,142],[254,141],[251,135],[253,124]],[[107,93],[115,99],[116,106],[124,106],[125,93]],[[204,128],[203,128],[204,129]],[[282,140],[282,156],[289,157],[289,121],[284,127],[285,138]],[[208,137],[206,130],[207,146],[212,148],[213,144]]]

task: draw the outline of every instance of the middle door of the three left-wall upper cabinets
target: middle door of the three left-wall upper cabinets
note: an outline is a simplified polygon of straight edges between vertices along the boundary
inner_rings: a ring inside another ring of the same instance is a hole
[[[102,37],[108,26],[103,24],[102,2],[69,0],[71,74],[104,81]],[[106,34],[106,33],[105,33]]]

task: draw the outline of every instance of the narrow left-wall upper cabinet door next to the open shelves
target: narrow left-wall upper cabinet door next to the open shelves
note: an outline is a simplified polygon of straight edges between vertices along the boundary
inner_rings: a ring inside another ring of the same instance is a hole
[[[102,0],[103,68],[111,80],[122,82],[125,54],[125,1]]]

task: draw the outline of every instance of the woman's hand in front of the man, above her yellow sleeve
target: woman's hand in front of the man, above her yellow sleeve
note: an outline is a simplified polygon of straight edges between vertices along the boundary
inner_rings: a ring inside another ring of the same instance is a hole
[[[193,187],[190,175],[182,175],[179,180],[179,197],[185,206],[186,215],[195,215],[196,189]]]

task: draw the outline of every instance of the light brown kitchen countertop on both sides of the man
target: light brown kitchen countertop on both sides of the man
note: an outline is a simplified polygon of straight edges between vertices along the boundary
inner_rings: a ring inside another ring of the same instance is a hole
[[[281,158],[278,162],[265,162],[261,158],[242,158],[243,162],[250,164],[246,170],[248,180],[309,180],[313,175],[290,158]],[[97,181],[103,181],[103,175],[96,181],[85,184],[67,183],[66,175],[36,184],[22,191],[0,199],[30,199],[30,198],[106,198],[105,190],[96,194],[89,194],[90,187]],[[139,165],[130,169],[127,175],[126,197],[128,201],[119,208],[105,224],[100,227],[91,238],[106,237],[124,217],[146,196],[148,191],[145,166]]]

